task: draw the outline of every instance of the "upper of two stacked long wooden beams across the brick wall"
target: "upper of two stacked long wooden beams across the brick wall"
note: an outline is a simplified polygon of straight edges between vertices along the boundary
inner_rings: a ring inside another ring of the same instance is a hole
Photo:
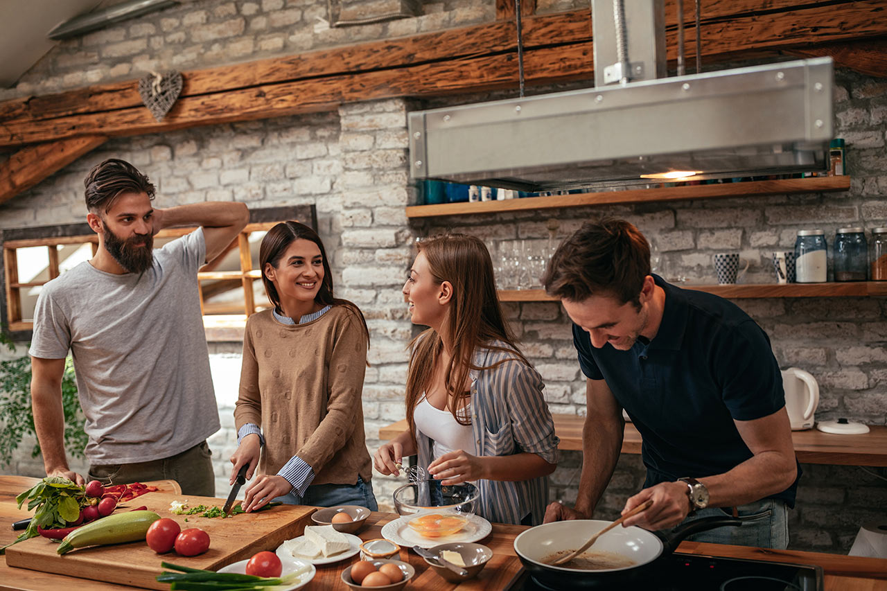
[[[503,0],[504,1],[504,0]],[[731,20],[743,20],[743,28],[771,28],[790,31],[796,28],[791,43],[809,34],[811,40],[836,41],[853,36],[878,36],[881,28],[873,31],[866,22],[883,20],[883,2],[845,2],[835,4],[809,1],[797,7],[797,0],[708,0],[703,6],[703,51],[707,55],[722,54],[723,48],[713,51],[710,43],[717,43],[723,28],[731,27]],[[693,3],[684,3],[685,20],[694,19]],[[666,2],[666,25],[677,24],[675,0]],[[797,23],[792,20],[807,14]],[[824,24],[826,23],[826,24]],[[828,23],[831,23],[830,25]],[[844,25],[846,23],[846,25]],[[873,23],[874,24],[874,23]],[[828,29],[824,34],[820,26]],[[829,29],[830,27],[830,29]],[[844,35],[839,30],[846,27]],[[527,51],[552,45],[569,45],[591,41],[591,13],[588,10],[558,12],[523,20],[522,36]],[[673,36],[673,34],[672,34]],[[687,30],[687,53],[695,55],[692,40],[695,31]],[[748,41],[748,40],[746,40]],[[754,41],[752,39],[751,41]],[[746,43],[747,44],[747,43]],[[441,60],[467,59],[499,52],[515,51],[516,31],[513,20],[448,29],[434,33],[412,35],[400,39],[373,41],[310,51],[283,58],[261,59],[235,66],[215,67],[184,73],[182,98],[238,91],[271,83],[288,83],[336,75],[353,75],[385,68],[409,67]],[[39,97],[27,97],[0,102],[0,129],[4,123],[40,121],[72,114],[90,114],[141,106],[138,82],[110,83],[90,86],[75,91]],[[470,90],[470,89],[468,89]]]

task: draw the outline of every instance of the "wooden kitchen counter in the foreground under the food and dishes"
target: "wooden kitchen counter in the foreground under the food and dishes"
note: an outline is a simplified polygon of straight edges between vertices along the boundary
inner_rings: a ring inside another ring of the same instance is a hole
[[[27,511],[15,506],[15,495],[24,491],[36,482],[36,478],[0,476],[0,544],[8,544],[14,540],[18,532],[12,532],[12,521],[26,517]],[[145,497],[153,493],[147,493]],[[223,499],[218,504],[224,503]],[[366,527],[357,533],[363,540],[381,538],[381,527],[396,515],[390,513],[373,513],[366,521]],[[494,556],[491,563],[476,578],[461,586],[454,586],[438,577],[428,568],[425,561],[405,548],[401,549],[402,560],[416,567],[416,576],[407,589],[426,589],[431,591],[493,591],[505,588],[519,573],[521,564],[514,554],[514,538],[527,529],[521,525],[493,524],[492,533],[481,540],[492,549]],[[133,542],[135,548],[140,542]],[[267,548],[273,550],[274,548]],[[815,563],[826,572],[825,588],[827,591],[845,591],[865,589],[870,591],[887,591],[887,560],[860,558],[856,556],[840,556],[792,550],[765,550],[761,548],[745,548],[739,546],[722,546],[684,542],[679,552],[705,556],[734,556],[754,558],[787,563]],[[341,563],[318,566],[318,573],[306,589],[333,590],[346,589],[341,583],[340,575],[349,564],[357,560],[351,558]],[[158,573],[161,558],[158,556]],[[76,579],[62,574],[51,574],[40,571],[12,568],[6,565],[5,558],[0,559],[0,589],[16,591],[46,591],[47,589],[65,589],[65,591],[106,591],[111,589],[132,589],[111,585],[89,579]]]

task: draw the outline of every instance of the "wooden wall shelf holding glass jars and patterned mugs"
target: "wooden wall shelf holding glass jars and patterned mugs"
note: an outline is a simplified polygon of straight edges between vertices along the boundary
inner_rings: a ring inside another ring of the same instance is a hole
[[[760,285],[678,285],[728,299],[749,297],[869,297],[887,296],[887,281],[847,283],[764,283]],[[500,302],[557,302],[544,289],[500,289]]]

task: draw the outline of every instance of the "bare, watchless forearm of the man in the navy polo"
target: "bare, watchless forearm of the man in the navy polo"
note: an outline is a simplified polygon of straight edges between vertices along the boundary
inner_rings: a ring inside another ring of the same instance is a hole
[[[622,451],[624,422],[585,418],[582,428],[582,474],[576,510],[591,517],[600,496],[609,484]]]

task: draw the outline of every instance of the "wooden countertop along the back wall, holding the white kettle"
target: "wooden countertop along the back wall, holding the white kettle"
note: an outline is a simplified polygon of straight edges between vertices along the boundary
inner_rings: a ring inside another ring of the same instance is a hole
[[[585,417],[553,414],[554,433],[561,438],[561,450],[582,451]],[[406,419],[379,429],[380,439],[391,439],[407,429]],[[797,461],[806,464],[843,466],[887,466],[887,427],[870,425],[865,435],[832,435],[819,429],[792,431]],[[640,433],[625,423],[622,453],[640,453]]]

